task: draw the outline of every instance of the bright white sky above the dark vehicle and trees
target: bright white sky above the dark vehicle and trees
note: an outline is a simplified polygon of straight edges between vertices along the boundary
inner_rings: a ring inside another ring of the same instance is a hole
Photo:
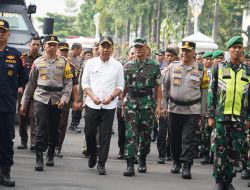
[[[38,28],[38,23],[36,21],[36,17],[45,17],[47,12],[52,12],[52,13],[60,13],[63,14],[65,13],[65,3],[64,0],[25,0],[26,5],[28,6],[30,3],[35,4],[36,7],[36,14],[32,15],[32,20],[34,23],[34,26],[36,30],[38,31],[39,34],[42,33],[41,29]],[[77,0],[78,5],[83,2],[83,0]]]

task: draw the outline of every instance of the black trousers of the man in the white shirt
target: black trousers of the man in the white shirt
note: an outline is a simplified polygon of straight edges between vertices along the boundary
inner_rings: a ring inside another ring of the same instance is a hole
[[[112,126],[115,109],[92,109],[86,106],[85,109],[85,137],[87,151],[91,156],[96,156],[96,133],[99,127],[100,148],[98,162],[105,164],[110,146]]]

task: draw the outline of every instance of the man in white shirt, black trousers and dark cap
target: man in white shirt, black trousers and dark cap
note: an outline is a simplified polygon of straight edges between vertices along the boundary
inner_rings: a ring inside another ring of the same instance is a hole
[[[82,88],[87,94],[85,110],[85,136],[89,154],[88,166],[96,165],[96,132],[99,127],[100,149],[97,174],[106,175],[112,125],[117,96],[124,88],[122,64],[111,57],[113,40],[104,36],[99,42],[99,57],[87,61],[82,77]]]

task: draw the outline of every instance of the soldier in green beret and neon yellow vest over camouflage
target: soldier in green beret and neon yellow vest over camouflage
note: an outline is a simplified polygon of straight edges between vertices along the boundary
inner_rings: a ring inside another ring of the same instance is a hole
[[[227,48],[230,60],[213,68],[208,92],[208,123],[216,126],[211,138],[212,151],[215,153],[214,190],[235,189],[232,179],[245,138],[244,123],[247,128],[250,126],[250,70],[240,62],[242,37],[231,38]]]

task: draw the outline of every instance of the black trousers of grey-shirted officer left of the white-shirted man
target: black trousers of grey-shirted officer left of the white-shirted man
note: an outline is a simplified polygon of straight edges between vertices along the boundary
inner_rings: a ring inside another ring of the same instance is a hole
[[[58,127],[60,122],[61,110],[57,105],[44,104],[35,101],[36,117],[36,140],[35,148],[38,152],[54,154],[58,142]]]

